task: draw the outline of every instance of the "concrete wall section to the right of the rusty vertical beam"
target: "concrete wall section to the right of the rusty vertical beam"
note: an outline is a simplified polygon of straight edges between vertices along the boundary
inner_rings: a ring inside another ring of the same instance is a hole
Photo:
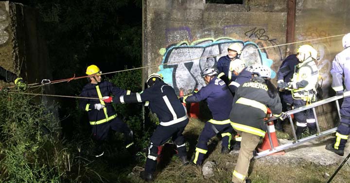
[[[295,41],[330,37],[305,42],[314,46],[318,51],[320,57],[317,63],[320,73],[319,83],[322,83],[324,98],[334,95],[330,74],[332,60],[337,53],[343,50],[343,36],[331,36],[350,33],[349,9],[349,0],[297,0]],[[334,104],[323,105],[316,109],[317,114],[320,114],[320,126],[325,128],[334,126],[338,121],[335,109]]]

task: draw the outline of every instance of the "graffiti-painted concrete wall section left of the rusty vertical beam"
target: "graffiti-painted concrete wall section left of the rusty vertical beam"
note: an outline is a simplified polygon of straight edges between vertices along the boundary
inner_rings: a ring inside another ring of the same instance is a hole
[[[162,73],[177,93],[204,86],[201,70],[215,65],[234,42],[244,46],[241,58],[248,65],[263,64],[277,71],[285,57],[284,47],[258,49],[285,43],[285,0],[250,0],[243,5],[147,0],[145,7],[144,65],[156,65],[148,73]],[[218,56],[206,57],[210,55]]]

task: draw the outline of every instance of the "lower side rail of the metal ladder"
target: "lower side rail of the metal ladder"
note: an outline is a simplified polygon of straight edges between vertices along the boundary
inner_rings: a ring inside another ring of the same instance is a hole
[[[337,127],[329,129],[329,130],[326,130],[326,131],[323,131],[320,134],[311,135],[309,137],[305,137],[305,138],[302,138],[300,140],[293,141],[292,143],[288,143],[288,144],[284,144],[284,145],[278,146],[274,150],[265,150],[265,151],[259,152],[259,153],[257,153],[256,156],[254,156],[254,159],[258,159],[258,158],[267,156],[269,154],[272,154],[272,153],[275,153],[275,152],[279,152],[281,150],[288,149],[288,148],[291,148],[291,147],[294,147],[294,146],[299,146],[299,145],[301,145],[301,144],[303,144],[305,142],[309,142],[309,141],[315,140],[315,139],[317,139],[319,137],[323,137],[323,136],[335,133],[336,130],[337,130]]]

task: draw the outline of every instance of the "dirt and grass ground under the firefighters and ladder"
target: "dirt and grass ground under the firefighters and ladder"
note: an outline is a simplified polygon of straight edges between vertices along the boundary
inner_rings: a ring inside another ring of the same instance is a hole
[[[190,119],[184,131],[188,142],[188,158],[194,154],[196,140],[204,127],[205,122]],[[279,132],[280,133],[280,132]],[[288,137],[287,133],[278,136]],[[308,142],[301,146],[287,149],[285,155],[266,156],[254,159],[250,163],[249,179],[253,183],[326,183],[334,171],[349,154],[349,146],[345,156],[341,157],[324,149],[331,142],[333,135]],[[287,139],[279,139],[280,144],[289,143]],[[236,165],[238,151],[231,151],[227,155],[220,153],[220,139],[214,137],[209,143],[208,161],[215,162],[214,176],[204,177],[202,167],[181,165],[172,150],[171,144],[164,147],[161,161],[158,163],[155,183],[230,183],[232,171]],[[166,150],[168,149],[168,150]],[[170,150],[169,150],[170,149]],[[335,175],[332,183],[350,183],[350,162],[343,166]],[[142,183],[138,172],[130,176],[132,183]]]

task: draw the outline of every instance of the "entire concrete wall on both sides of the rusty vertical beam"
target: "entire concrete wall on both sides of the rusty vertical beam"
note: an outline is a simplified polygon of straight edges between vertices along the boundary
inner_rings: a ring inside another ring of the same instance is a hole
[[[151,66],[145,73],[162,73],[177,94],[204,86],[201,70],[215,65],[220,57],[206,56],[227,54],[227,46],[233,42],[244,46],[241,58],[248,65],[269,66],[272,77],[286,57],[285,46],[271,46],[286,43],[287,0],[246,0],[243,5],[207,4],[205,0],[144,2],[143,64]],[[295,41],[350,32],[349,4],[349,0],[297,0]],[[294,45],[296,49],[308,43],[319,51],[317,65],[324,98],[332,96],[329,72],[334,56],[342,50],[341,39],[342,36]],[[331,105],[317,109],[322,114],[322,126],[330,126],[330,121],[333,125],[334,109]]]

